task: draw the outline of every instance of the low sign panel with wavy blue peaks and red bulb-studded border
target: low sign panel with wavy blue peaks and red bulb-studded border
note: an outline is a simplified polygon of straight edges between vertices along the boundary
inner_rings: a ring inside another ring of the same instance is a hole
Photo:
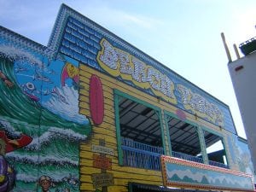
[[[166,185],[198,189],[253,190],[253,177],[217,167],[197,164],[187,160],[161,156],[162,171]]]

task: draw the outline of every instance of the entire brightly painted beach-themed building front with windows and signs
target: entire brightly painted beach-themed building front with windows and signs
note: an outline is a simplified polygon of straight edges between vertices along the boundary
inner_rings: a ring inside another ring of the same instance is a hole
[[[0,191],[254,190],[226,104],[67,5],[0,57]]]

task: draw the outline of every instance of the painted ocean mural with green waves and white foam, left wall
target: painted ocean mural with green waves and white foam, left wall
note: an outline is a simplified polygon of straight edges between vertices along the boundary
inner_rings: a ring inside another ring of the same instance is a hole
[[[15,172],[12,191],[41,191],[42,176],[50,177],[55,191],[79,191],[79,145],[90,135],[90,121],[79,114],[78,82],[67,76],[61,85],[66,62],[44,61],[43,56],[0,45],[0,70],[14,84],[9,88],[0,83],[1,139],[32,139],[4,155]]]

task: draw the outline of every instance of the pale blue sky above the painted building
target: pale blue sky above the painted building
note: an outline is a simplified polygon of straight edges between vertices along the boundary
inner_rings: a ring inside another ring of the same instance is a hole
[[[233,44],[256,36],[255,0],[0,0],[0,25],[47,45],[61,3],[229,105],[246,137],[220,33],[235,61]]]

